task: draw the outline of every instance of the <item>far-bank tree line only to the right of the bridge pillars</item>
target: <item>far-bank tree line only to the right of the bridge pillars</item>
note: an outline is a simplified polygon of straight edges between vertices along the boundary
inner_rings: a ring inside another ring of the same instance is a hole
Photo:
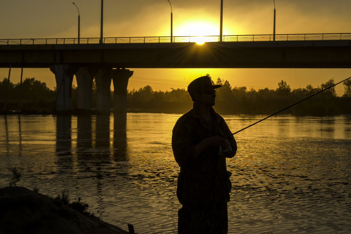
[[[210,76],[210,74],[207,74]],[[210,76],[211,78],[211,76]],[[227,80],[217,78],[212,84],[222,85],[216,89],[216,105],[220,114],[272,114],[287,106],[307,98],[335,84],[330,79],[320,86],[307,85],[305,88],[291,89],[286,81],[280,81],[276,89],[250,89],[245,86],[232,87]],[[335,115],[351,114],[351,80],[343,83],[344,94],[337,96],[335,87],[293,106],[286,113],[296,115]],[[185,88],[172,91],[153,91],[147,85],[138,90],[128,90],[128,108],[158,109],[164,112],[184,113],[192,108],[192,101]]]

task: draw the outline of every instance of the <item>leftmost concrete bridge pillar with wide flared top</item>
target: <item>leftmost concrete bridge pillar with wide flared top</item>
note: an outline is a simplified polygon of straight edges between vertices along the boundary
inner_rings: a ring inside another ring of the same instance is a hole
[[[72,81],[73,74],[78,68],[68,65],[50,66],[50,71],[55,74],[56,79],[56,111],[67,111],[72,109]]]

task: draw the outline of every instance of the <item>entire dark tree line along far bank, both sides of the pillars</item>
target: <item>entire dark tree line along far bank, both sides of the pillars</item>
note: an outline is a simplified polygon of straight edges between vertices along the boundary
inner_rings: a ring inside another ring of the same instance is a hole
[[[209,74],[207,74],[210,76]],[[211,77],[211,76],[210,76]],[[280,109],[292,105],[314,93],[335,84],[333,79],[313,87],[291,89],[286,81],[280,81],[276,89],[262,88],[250,89],[245,86],[232,87],[227,80],[217,78],[213,84],[222,85],[216,89],[216,111],[220,114],[272,114]],[[7,78],[0,82],[0,108],[5,102]],[[285,113],[296,115],[335,115],[351,114],[351,80],[343,83],[344,94],[339,97],[335,87],[324,91],[289,109]],[[21,90],[20,90],[21,89]],[[21,110],[53,111],[56,101],[56,87],[49,89],[45,82],[35,78],[26,78],[22,82],[8,85],[7,109],[16,110],[18,107],[19,93],[21,91]],[[72,86],[72,107],[77,108],[77,87]],[[92,106],[96,105],[96,85],[93,81]],[[111,108],[113,107],[113,91],[111,91]],[[149,111],[184,113],[192,108],[192,101],[185,88],[172,89],[171,91],[153,91],[150,85],[143,88],[127,90],[127,107],[130,111]]]

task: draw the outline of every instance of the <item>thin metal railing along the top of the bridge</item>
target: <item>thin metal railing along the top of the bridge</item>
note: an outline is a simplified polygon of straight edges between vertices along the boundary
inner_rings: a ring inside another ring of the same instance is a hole
[[[173,42],[218,42],[219,36],[173,36]],[[351,33],[322,33],[322,34],[276,34],[276,41],[307,41],[307,40],[351,40]],[[273,41],[272,34],[260,35],[225,35],[223,41]],[[163,43],[171,42],[170,36],[146,37],[115,37],[103,38],[105,44],[117,43]],[[47,39],[0,39],[0,45],[57,45],[57,44],[98,44],[100,38],[47,38]]]

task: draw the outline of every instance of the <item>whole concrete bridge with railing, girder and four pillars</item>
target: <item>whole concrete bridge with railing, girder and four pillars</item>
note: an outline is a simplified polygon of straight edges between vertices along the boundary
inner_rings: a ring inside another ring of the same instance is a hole
[[[78,108],[91,109],[95,77],[97,109],[126,112],[125,68],[350,68],[351,33],[199,37],[0,39],[0,67],[50,68],[57,83],[57,111],[71,109],[73,75]]]

